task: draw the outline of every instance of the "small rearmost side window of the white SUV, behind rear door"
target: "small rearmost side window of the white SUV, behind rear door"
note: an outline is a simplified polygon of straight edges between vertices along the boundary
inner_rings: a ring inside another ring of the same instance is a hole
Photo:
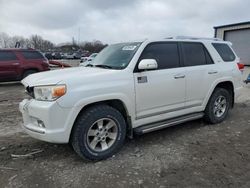
[[[213,43],[214,48],[220,54],[223,61],[234,61],[235,55],[227,44]]]

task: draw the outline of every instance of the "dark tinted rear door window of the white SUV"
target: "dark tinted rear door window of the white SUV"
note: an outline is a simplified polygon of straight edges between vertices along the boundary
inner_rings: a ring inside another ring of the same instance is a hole
[[[205,65],[206,55],[200,43],[182,43],[185,66]]]

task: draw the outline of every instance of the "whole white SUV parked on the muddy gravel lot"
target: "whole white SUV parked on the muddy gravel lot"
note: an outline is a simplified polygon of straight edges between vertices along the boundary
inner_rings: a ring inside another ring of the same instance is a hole
[[[204,118],[222,122],[241,88],[241,64],[229,42],[175,37],[113,44],[88,67],[25,78],[33,99],[20,103],[34,138],[70,143],[101,160],[133,134]]]

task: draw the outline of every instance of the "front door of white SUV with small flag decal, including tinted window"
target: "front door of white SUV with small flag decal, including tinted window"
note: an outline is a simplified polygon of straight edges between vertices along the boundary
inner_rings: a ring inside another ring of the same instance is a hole
[[[137,119],[178,111],[185,104],[185,72],[180,66],[177,42],[157,42],[145,47],[139,58],[155,59],[158,69],[135,68]]]

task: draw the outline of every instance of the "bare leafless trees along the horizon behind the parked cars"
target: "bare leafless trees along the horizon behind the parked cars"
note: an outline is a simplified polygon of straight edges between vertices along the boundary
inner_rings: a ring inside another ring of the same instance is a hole
[[[29,38],[25,38],[22,36],[9,36],[3,32],[0,33],[0,48],[33,48],[42,52],[84,50],[93,53],[101,51],[106,46],[107,44],[103,44],[99,40],[82,42],[80,44],[76,44],[73,40],[71,43],[67,42],[61,45],[55,45],[53,42],[45,40],[39,35],[31,35]]]

